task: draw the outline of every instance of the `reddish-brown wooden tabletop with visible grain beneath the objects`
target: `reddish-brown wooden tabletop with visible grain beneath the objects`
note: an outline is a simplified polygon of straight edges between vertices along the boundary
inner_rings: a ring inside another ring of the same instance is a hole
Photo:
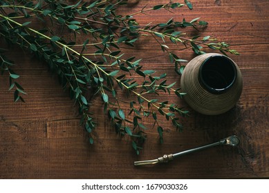
[[[163,1],[131,1],[123,13],[136,12]],[[147,141],[137,156],[128,138],[115,134],[102,112],[100,97],[92,100],[98,128],[95,143],[89,145],[79,125],[80,116],[57,77],[44,63],[28,52],[12,48],[8,52],[21,75],[28,94],[26,103],[14,103],[8,90],[8,77],[0,77],[0,178],[1,179],[237,179],[269,177],[269,35],[267,0],[192,0],[193,10],[175,14],[151,11],[136,17],[138,22],[165,22],[169,18],[201,19],[209,22],[203,35],[232,44],[240,56],[230,55],[243,74],[243,92],[229,112],[206,116],[191,110],[182,120],[183,132],[165,122],[164,143],[158,142],[156,128],[147,130]],[[1,46],[6,45],[1,41]],[[158,45],[144,42],[136,54],[146,68],[169,74],[168,81],[180,79]],[[134,50],[131,50],[133,52]],[[180,54],[180,52],[178,52]],[[190,60],[192,50],[181,54]],[[163,95],[163,99],[169,97]],[[184,101],[174,98],[179,105]],[[126,106],[126,109],[129,107]],[[162,121],[165,121],[163,119]],[[152,124],[148,121],[147,125]],[[155,159],[236,134],[239,148],[218,146],[189,154],[153,167],[135,167],[133,161]]]

